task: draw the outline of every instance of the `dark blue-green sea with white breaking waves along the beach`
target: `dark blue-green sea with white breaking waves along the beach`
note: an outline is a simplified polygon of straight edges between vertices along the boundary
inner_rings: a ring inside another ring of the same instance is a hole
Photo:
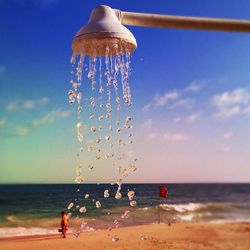
[[[167,187],[166,198],[159,197],[160,186]],[[109,190],[108,198],[104,190]],[[84,231],[159,220],[169,225],[250,222],[250,184],[123,184],[119,200],[116,190],[110,184],[0,185],[0,238],[58,234],[62,211],[76,237]],[[127,196],[131,190],[133,207]],[[82,207],[86,212],[79,212]]]

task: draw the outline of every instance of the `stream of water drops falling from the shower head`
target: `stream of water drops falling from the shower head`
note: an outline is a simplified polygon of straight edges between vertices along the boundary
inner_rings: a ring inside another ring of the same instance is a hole
[[[120,46],[115,46],[115,55],[110,55],[109,47],[106,47],[105,56],[73,55],[71,88],[68,91],[69,104],[75,107],[77,113],[75,130],[79,152],[75,182],[87,182],[91,173],[94,175],[102,168],[110,172],[112,167],[116,174],[110,175],[110,182],[117,185],[117,190],[113,197],[108,189],[103,190],[102,198],[116,200],[123,199],[121,185],[124,178],[137,169],[137,158],[133,157],[132,150],[133,117],[130,114],[131,55],[125,49],[118,51],[118,48]],[[89,197],[91,194],[82,198]],[[128,200],[128,205],[136,206],[134,191],[128,191],[124,198]],[[97,209],[103,207],[98,197],[92,202]],[[73,207],[80,214],[89,210],[84,202],[76,205],[71,202],[68,210]],[[128,217],[129,211],[125,211],[122,218]]]

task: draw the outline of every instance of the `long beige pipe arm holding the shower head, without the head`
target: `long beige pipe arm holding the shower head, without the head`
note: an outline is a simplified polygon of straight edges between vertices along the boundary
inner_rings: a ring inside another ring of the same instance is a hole
[[[114,11],[117,18],[124,25],[175,29],[250,32],[249,20],[158,15],[125,12],[117,9]]]

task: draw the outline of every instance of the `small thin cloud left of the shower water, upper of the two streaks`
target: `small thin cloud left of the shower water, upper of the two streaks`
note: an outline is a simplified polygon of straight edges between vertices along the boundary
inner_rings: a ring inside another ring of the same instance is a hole
[[[7,103],[5,110],[8,112],[22,111],[22,110],[32,110],[37,107],[46,105],[49,102],[47,97],[43,97],[38,100],[24,100],[24,101],[10,101]]]

